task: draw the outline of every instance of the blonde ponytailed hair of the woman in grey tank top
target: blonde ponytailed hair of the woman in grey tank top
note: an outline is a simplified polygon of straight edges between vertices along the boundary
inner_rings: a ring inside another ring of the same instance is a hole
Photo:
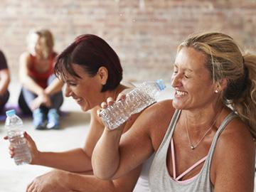
[[[256,55],[242,53],[237,43],[223,33],[198,33],[178,46],[195,48],[206,55],[206,68],[213,82],[228,80],[222,100],[230,105],[256,137]]]

